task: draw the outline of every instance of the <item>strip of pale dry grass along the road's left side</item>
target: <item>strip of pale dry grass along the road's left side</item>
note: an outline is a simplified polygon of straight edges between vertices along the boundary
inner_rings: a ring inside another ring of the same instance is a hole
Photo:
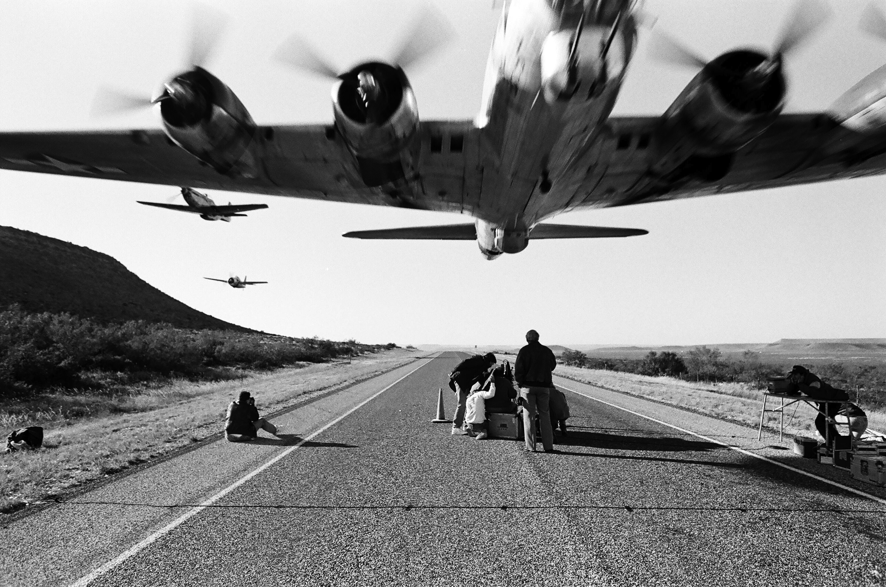
[[[306,393],[331,390],[406,364],[420,353],[386,351],[350,361],[310,364],[238,381],[180,381],[127,397],[112,398],[118,413],[80,412],[92,400],[71,397],[77,410],[53,408],[21,414],[0,409],[0,426],[43,425],[43,448],[0,454],[0,513],[156,458],[219,432],[224,413],[240,390],[248,389],[261,413],[299,401]],[[106,400],[107,398],[105,398]]]

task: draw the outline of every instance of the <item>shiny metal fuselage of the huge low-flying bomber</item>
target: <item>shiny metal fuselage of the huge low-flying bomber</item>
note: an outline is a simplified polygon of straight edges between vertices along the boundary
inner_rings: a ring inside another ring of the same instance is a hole
[[[513,0],[502,12],[476,120],[496,171],[470,210],[487,258],[523,251],[529,229],[579,195],[633,54],[629,4],[599,0],[582,17],[580,1]]]

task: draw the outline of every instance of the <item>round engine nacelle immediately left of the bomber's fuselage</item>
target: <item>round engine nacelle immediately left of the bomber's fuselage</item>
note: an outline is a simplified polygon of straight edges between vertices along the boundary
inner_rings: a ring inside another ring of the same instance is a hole
[[[359,159],[389,163],[408,150],[418,132],[418,105],[406,73],[367,63],[339,76],[332,108],[347,148]]]

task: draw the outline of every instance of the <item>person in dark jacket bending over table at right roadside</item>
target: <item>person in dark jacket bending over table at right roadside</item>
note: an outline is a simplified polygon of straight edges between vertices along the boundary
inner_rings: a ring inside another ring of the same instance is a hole
[[[858,440],[867,430],[867,414],[858,405],[849,401],[849,394],[844,390],[838,390],[828,385],[828,383],[820,380],[818,375],[814,375],[801,365],[795,365],[788,374],[791,383],[790,391],[802,392],[804,395],[812,399],[821,399],[828,402],[842,403],[819,403],[819,415],[815,418],[815,429],[819,431],[822,438],[826,440],[830,438],[830,446],[828,450],[834,450],[835,445],[839,444],[839,439],[843,436],[837,431],[832,421],[836,420],[836,416],[843,416],[849,424],[850,434]]]

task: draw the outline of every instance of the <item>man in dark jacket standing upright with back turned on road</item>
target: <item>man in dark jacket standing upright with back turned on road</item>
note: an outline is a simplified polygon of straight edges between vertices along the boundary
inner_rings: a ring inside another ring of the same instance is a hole
[[[541,445],[545,452],[554,452],[554,431],[551,429],[551,417],[548,412],[550,388],[554,387],[551,371],[556,367],[554,353],[544,344],[539,343],[539,333],[530,330],[526,333],[525,347],[517,353],[514,364],[514,377],[520,386],[520,398],[523,398],[523,434],[525,450],[535,452],[535,413],[539,413],[541,426]]]

